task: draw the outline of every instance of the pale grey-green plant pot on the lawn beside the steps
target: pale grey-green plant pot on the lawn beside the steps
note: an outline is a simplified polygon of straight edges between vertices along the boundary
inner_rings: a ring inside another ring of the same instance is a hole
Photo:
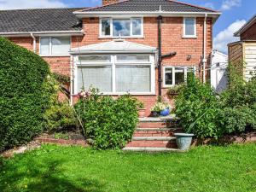
[[[176,137],[177,148],[182,150],[188,150],[194,134],[189,133],[175,133],[174,136]]]

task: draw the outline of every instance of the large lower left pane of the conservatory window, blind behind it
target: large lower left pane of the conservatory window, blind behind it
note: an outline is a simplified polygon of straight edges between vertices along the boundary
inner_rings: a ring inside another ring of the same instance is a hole
[[[83,84],[84,79],[84,84]],[[94,66],[78,68],[78,91],[83,88],[88,90],[90,85],[102,92],[112,91],[112,67]]]

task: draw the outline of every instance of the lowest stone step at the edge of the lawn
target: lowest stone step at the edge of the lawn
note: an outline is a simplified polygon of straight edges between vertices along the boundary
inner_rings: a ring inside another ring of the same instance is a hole
[[[154,148],[154,147],[125,147],[124,151],[135,152],[186,152],[185,150],[177,148]]]

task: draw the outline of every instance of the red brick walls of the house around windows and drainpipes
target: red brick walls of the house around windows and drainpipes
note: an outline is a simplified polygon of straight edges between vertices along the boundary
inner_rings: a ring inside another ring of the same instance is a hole
[[[137,44],[145,44],[153,47],[158,47],[158,25],[157,19],[150,17],[144,18],[144,38],[125,38]],[[167,54],[176,51],[177,55],[172,58],[163,60],[163,67],[165,66],[191,66],[200,67],[201,56],[203,53],[203,23],[204,18],[197,18],[196,30],[197,38],[183,38],[183,18],[163,18],[162,24],[162,52]],[[99,44],[113,40],[112,38],[99,38],[99,19],[87,18],[83,20],[84,37],[73,37],[72,47],[79,47],[90,44]],[[27,49],[32,49],[32,38],[10,38],[15,44],[20,44]],[[212,19],[207,20],[207,59],[212,51]],[[38,40],[37,40],[38,52]],[[191,55],[191,60],[187,61],[187,56]],[[52,71],[57,73],[69,74],[70,57],[44,57],[45,61],[49,62]],[[158,93],[158,72],[156,71],[155,88]],[[163,95],[166,96],[166,90],[163,89]],[[145,103],[148,108],[154,105],[157,96],[137,96]]]

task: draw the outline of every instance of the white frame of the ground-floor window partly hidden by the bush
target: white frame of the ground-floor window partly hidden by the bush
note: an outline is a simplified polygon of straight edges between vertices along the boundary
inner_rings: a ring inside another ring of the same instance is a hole
[[[167,68],[172,68],[172,84],[166,84],[166,69]],[[175,84],[175,68],[183,68],[184,69],[184,81],[186,82],[187,78],[188,78],[188,68],[193,68],[194,69],[194,74],[196,75],[196,67],[193,66],[166,66],[164,67],[164,75],[163,75],[163,87],[164,88],[168,88],[168,87],[173,87],[177,84]]]

